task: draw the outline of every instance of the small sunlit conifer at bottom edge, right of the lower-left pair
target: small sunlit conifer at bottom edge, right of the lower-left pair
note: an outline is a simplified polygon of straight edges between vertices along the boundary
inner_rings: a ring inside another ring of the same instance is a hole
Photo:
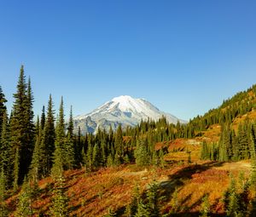
[[[51,214],[54,217],[68,216],[68,197],[64,192],[64,182],[64,177],[61,176],[55,183],[52,206],[50,208]]]

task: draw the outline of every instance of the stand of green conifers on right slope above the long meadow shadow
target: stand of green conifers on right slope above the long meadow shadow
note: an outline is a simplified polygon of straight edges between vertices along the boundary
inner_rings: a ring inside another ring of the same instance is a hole
[[[256,146],[256,124],[246,120],[238,125],[224,124],[218,144],[202,143],[201,159],[218,161],[240,161],[252,158]]]

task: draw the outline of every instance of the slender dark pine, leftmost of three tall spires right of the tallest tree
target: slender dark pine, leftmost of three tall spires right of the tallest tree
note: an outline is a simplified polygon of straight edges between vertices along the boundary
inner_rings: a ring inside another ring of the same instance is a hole
[[[47,108],[47,117],[44,124],[44,131],[42,134],[42,155],[44,156],[42,162],[44,176],[49,175],[52,168],[53,153],[55,151],[55,117],[53,110],[53,102],[51,95],[49,95],[49,102]]]

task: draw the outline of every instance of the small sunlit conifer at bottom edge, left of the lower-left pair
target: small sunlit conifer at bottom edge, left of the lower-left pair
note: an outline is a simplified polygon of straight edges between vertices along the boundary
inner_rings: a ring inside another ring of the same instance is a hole
[[[15,217],[32,216],[32,189],[26,178],[23,182],[18,200],[19,202],[15,211]]]

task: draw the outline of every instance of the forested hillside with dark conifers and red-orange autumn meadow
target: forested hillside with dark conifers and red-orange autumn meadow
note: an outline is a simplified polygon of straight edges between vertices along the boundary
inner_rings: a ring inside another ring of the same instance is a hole
[[[63,98],[56,110],[49,95],[40,117],[33,100],[21,66],[10,114],[0,89],[0,216],[255,214],[256,85],[187,124],[162,117],[85,135],[73,134],[72,108],[65,123]],[[242,174],[222,168],[241,161]]]

